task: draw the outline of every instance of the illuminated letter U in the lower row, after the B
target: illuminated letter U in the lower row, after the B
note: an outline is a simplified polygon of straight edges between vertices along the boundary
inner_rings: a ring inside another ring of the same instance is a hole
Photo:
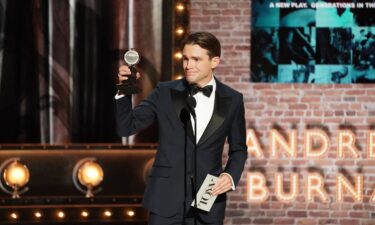
[[[298,194],[298,174],[292,173],[290,175],[290,192],[284,192],[283,175],[281,173],[275,174],[276,181],[276,198],[283,202],[291,202],[296,199]]]

